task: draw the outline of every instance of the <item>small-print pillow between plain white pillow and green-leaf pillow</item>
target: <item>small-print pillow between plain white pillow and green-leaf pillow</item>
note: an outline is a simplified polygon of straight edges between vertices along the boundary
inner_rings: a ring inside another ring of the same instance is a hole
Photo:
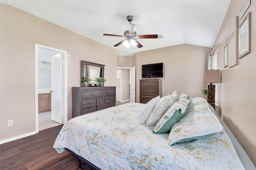
[[[156,107],[151,111],[146,122],[147,126],[154,126],[161,119],[164,113],[178,100],[178,93],[174,91],[172,95],[160,99]]]

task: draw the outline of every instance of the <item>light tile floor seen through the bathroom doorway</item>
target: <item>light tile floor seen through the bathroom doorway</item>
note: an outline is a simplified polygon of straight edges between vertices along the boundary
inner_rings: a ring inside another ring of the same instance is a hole
[[[55,127],[58,125],[61,125],[61,124],[51,120],[51,111],[38,113],[38,130],[39,131],[48,129],[50,127]]]

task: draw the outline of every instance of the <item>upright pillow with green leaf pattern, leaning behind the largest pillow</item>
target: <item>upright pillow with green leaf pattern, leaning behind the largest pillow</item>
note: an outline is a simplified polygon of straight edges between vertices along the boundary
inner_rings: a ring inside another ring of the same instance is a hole
[[[187,112],[190,100],[182,98],[175,102],[156,123],[154,133],[167,133]]]

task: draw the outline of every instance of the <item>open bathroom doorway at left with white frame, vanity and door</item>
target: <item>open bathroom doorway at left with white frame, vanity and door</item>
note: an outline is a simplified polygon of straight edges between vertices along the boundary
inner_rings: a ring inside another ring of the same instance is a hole
[[[67,121],[67,52],[35,44],[36,133]]]

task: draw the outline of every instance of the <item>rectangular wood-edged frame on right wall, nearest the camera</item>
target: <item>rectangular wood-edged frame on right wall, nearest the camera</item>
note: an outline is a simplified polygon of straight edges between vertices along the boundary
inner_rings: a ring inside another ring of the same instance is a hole
[[[240,24],[238,35],[239,59],[241,59],[251,52],[251,12],[248,12]]]

